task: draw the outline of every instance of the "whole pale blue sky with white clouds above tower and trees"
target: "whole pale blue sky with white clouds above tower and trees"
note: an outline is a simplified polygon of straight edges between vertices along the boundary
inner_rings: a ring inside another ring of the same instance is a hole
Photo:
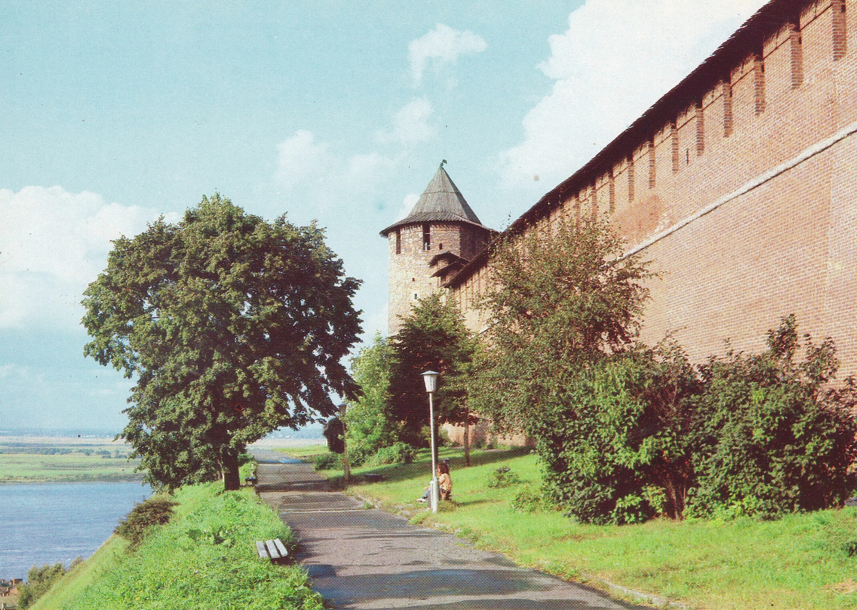
[[[317,219],[385,332],[378,231],[441,159],[502,229],[763,4],[0,3],[0,431],[123,428],[80,325],[117,236],[215,192]]]

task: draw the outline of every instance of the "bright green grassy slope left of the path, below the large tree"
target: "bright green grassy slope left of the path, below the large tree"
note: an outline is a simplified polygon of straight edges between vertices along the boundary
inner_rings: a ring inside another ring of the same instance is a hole
[[[306,573],[258,559],[255,541],[291,532],[249,488],[184,487],[176,514],[134,553],[117,537],[55,585],[35,610],[321,610]]]

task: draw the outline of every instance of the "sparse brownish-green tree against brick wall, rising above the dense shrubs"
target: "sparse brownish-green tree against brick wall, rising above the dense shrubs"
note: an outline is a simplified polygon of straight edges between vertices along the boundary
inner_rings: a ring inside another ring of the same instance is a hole
[[[542,414],[564,409],[566,388],[585,368],[628,349],[653,276],[606,223],[560,224],[494,246],[494,289],[485,349],[470,383],[476,410],[495,428],[542,434]]]

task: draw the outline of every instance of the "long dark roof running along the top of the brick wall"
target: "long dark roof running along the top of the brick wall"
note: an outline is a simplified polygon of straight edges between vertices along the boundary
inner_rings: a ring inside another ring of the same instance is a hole
[[[583,167],[542,196],[503,233],[515,234],[524,231],[536,219],[542,218],[573,194],[590,186],[609,168],[620,164],[633,150],[644,142],[650,141],[664,125],[671,123],[688,105],[716,87],[718,82],[728,81],[732,70],[740,66],[748,55],[758,53],[765,39],[775,36],[788,24],[799,25],[801,11],[813,3],[814,0],[771,0],[758,9],[729,36],[726,42],[717,47],[716,51],[678,85],[651,105],[649,110],[602,148]],[[455,288],[469,278],[486,263],[489,249],[482,250],[467,266],[464,266],[461,272],[456,273],[444,285],[447,288]]]

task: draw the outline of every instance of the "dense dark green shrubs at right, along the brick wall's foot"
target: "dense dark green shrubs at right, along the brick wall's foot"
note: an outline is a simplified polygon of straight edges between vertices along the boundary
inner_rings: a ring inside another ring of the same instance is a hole
[[[525,422],[545,491],[583,522],[777,517],[841,505],[857,486],[854,380],[831,386],[835,349],[794,316],[758,355],[728,351],[693,367],[675,345],[604,358]]]

